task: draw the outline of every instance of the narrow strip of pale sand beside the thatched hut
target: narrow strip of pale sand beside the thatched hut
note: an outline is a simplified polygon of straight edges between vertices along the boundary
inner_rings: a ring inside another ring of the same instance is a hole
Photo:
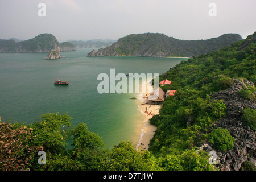
[[[153,115],[158,114],[159,109],[161,108],[161,105],[144,104],[148,102],[148,98],[143,98],[143,96],[146,96],[146,94],[150,94],[153,88],[151,84],[148,84],[146,81],[142,84],[142,86],[147,86],[148,93],[140,93],[137,95],[136,99],[138,110],[143,115],[143,120],[139,121],[140,128],[137,128],[138,131],[136,150],[148,150],[150,140],[154,137],[155,130],[157,128],[156,126],[151,125],[149,119],[152,118]]]

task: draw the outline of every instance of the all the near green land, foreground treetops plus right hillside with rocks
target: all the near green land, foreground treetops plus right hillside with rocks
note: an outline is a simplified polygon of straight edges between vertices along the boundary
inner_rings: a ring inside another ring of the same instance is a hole
[[[129,141],[105,148],[83,121],[43,114],[30,125],[0,123],[2,170],[255,170],[256,32],[218,51],[193,56],[160,75],[176,89],[150,122],[148,150]],[[160,81],[159,80],[159,81]],[[70,144],[67,147],[68,143]],[[47,165],[38,164],[38,152]],[[209,163],[209,152],[216,158]]]

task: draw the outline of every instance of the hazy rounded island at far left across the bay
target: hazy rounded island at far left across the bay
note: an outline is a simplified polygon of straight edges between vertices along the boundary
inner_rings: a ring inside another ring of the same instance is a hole
[[[35,38],[20,41],[11,38],[0,39],[0,52],[49,52],[51,50],[76,51],[76,47],[69,42],[59,43],[52,34],[40,34]]]

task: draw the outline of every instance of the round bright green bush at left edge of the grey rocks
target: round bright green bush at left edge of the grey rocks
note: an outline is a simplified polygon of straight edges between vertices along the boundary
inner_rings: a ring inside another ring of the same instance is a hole
[[[209,142],[214,144],[219,150],[228,151],[234,146],[234,137],[232,137],[227,129],[214,129],[208,134]]]

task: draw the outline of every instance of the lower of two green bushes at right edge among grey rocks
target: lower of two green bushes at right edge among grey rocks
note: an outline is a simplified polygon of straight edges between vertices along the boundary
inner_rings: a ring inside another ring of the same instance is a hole
[[[242,120],[246,126],[250,126],[251,129],[256,130],[256,110],[247,107],[242,110]]]

